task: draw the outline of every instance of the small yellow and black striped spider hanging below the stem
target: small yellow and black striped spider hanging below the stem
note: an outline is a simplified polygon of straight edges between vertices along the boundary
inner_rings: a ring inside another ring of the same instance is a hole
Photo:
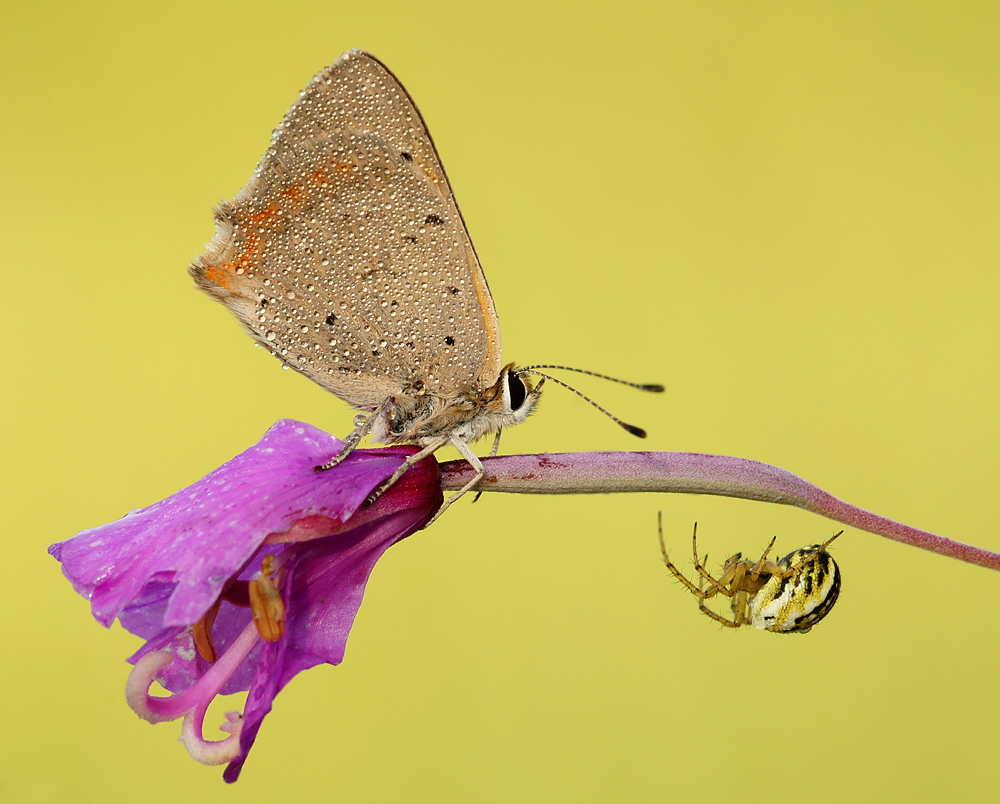
[[[776,634],[804,634],[829,614],[833,604],[837,602],[840,594],[840,569],[826,548],[843,531],[835,533],[823,544],[793,550],[777,562],[767,557],[774,547],[774,539],[771,539],[759,561],[744,559],[742,553],[737,553],[726,559],[722,574],[713,578],[705,569],[704,563],[698,560],[696,522],[691,535],[694,567],[698,571],[698,585],[695,586],[667,556],[667,545],[663,541],[662,514],[658,521],[660,549],[667,569],[698,598],[698,608],[703,614],[727,628],[753,625]],[[706,555],[704,561],[707,560]],[[732,619],[705,605],[706,600],[720,594],[730,598]]]

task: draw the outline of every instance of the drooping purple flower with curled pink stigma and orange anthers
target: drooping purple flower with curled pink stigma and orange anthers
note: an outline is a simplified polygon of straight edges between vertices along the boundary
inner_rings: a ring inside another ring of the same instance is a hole
[[[146,644],[129,661],[129,704],[150,722],[184,718],[183,741],[236,781],[275,695],[297,673],[344,658],[375,562],[440,507],[433,457],[372,505],[368,495],[414,453],[356,450],[313,467],[341,442],[308,424],[277,422],[261,441],[197,483],[49,552],[90,600]],[[153,680],[175,693],[148,694]],[[230,736],[206,741],[217,694],[249,690]]]

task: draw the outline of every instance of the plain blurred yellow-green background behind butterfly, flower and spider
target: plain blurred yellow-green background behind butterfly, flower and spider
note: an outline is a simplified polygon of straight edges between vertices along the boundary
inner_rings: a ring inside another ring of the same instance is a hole
[[[349,429],[185,269],[351,47],[425,113],[504,356],[667,385],[579,379],[644,443],[551,388],[505,452],[754,458],[1000,548],[998,31],[992,2],[5,4],[0,799],[995,800],[1000,576],[851,530],[840,604],[781,637],[660,562],[658,509],[685,566],[695,520],[714,560],[833,532],[794,510],[465,500],[235,788],[129,711],[137,640],[45,549],[278,418]]]

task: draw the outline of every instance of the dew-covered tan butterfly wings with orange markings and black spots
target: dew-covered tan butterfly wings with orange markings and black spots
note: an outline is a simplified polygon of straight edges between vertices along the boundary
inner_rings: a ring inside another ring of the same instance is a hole
[[[352,51],[302,93],[191,267],[253,337],[350,404],[500,372],[493,301],[419,112]]]

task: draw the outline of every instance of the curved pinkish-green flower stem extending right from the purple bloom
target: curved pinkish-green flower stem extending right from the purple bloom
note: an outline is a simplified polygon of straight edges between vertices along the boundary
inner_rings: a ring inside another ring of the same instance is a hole
[[[791,505],[878,536],[1000,570],[1000,554],[946,539],[838,500],[802,478],[758,461],[692,452],[587,452],[484,458],[477,491],[513,494],[609,494],[654,491],[712,494]],[[474,470],[441,464],[441,487],[461,488]]]

